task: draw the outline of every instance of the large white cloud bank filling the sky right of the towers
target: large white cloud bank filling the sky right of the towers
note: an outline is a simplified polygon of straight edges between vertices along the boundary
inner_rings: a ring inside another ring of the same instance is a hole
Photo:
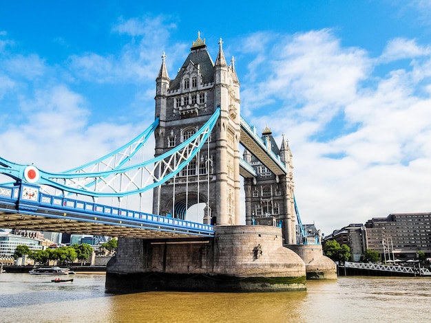
[[[250,58],[259,64],[249,65],[256,82],[240,78],[242,107],[258,129],[268,124],[290,140],[302,221],[328,234],[375,216],[430,210],[430,62],[413,60],[428,47],[390,41],[386,58],[411,63],[378,75],[383,59],[342,47],[330,30],[277,40]]]

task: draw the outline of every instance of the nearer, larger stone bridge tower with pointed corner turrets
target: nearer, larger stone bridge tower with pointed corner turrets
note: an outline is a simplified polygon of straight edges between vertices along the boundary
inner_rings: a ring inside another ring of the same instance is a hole
[[[233,59],[227,65],[219,42],[213,63],[205,39],[191,51],[171,80],[165,54],[156,78],[155,156],[178,146],[207,122],[220,107],[209,142],[174,179],[154,188],[153,213],[185,219],[187,209],[205,203],[204,223],[235,225],[240,213],[240,82]]]

